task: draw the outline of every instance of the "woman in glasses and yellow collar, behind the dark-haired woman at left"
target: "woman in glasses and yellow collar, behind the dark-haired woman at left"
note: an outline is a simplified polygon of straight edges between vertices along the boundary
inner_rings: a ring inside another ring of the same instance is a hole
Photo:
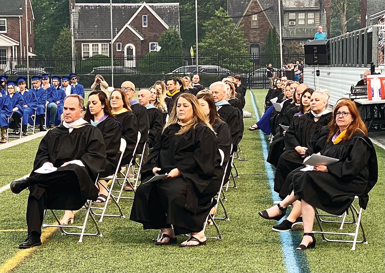
[[[110,95],[110,105],[112,114],[122,126],[122,138],[126,140],[126,151],[123,154],[121,166],[128,165],[131,162],[134,149],[138,141],[139,122],[136,116],[131,112],[131,107],[127,102],[125,92],[116,89]]]

